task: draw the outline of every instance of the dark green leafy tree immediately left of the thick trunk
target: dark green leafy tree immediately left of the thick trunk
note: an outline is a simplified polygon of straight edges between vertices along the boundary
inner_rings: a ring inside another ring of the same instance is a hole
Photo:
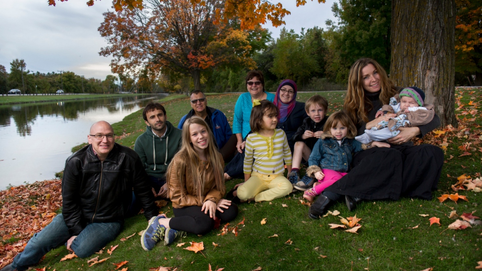
[[[376,59],[390,70],[391,0],[340,0],[332,11],[338,23],[330,26],[326,69],[331,80],[346,82],[351,64],[361,57]]]

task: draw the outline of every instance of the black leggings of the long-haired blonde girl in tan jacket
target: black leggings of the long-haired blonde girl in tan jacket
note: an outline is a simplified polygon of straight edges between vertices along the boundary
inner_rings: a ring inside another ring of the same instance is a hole
[[[174,230],[185,231],[197,235],[205,235],[214,229],[214,219],[201,211],[200,206],[189,206],[183,208],[173,208],[174,218],[169,222],[169,227]],[[238,205],[231,203],[224,213],[216,210],[216,217],[221,219],[221,223],[232,221],[238,216]]]

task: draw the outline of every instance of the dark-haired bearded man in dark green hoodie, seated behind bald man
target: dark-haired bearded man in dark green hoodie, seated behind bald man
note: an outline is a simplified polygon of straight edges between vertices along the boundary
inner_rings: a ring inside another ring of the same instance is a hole
[[[166,109],[158,102],[149,102],[142,116],[147,129],[136,139],[134,150],[144,164],[154,197],[168,198],[164,174],[181,148],[182,131],[167,121]]]

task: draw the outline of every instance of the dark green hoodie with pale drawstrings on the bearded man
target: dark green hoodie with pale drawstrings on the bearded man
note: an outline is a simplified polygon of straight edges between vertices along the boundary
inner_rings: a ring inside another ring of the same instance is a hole
[[[159,137],[147,126],[136,139],[134,150],[139,154],[148,175],[163,178],[174,155],[181,149],[182,131],[166,121],[167,131]]]

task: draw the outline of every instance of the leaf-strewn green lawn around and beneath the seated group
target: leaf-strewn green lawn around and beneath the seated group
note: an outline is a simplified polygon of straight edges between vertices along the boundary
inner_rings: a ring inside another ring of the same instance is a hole
[[[457,92],[459,93],[459,92]],[[481,90],[469,93],[462,91],[462,103],[481,101]],[[313,93],[298,93],[300,101],[305,101]],[[330,101],[328,112],[341,109],[343,93],[323,92]],[[239,94],[224,94],[208,96],[208,105],[221,109],[228,119],[233,119],[233,108]],[[164,102],[168,120],[177,125],[179,119],[191,109],[188,98],[174,99]],[[458,106],[456,106],[458,107]],[[461,113],[464,107],[457,111]],[[477,106],[478,113],[475,122],[467,127],[470,134],[481,135],[481,105]],[[130,133],[120,142],[132,147],[135,139],[145,129],[141,116],[142,111],[127,116],[123,122],[114,124],[116,134]],[[474,112],[473,112],[474,113]],[[470,115],[468,116],[470,117]],[[452,140],[452,138],[450,139]],[[338,217],[328,216],[320,220],[308,217],[308,207],[301,205],[299,198],[301,192],[291,194],[285,198],[274,200],[271,203],[241,204],[240,214],[231,225],[239,223],[245,218],[244,227],[240,227],[238,237],[231,232],[221,236],[220,230],[214,230],[206,236],[197,237],[189,234],[187,238],[176,241],[204,242],[201,253],[193,253],[176,247],[175,244],[165,247],[162,244],[152,251],[145,252],[140,245],[140,237],[120,241],[121,238],[138,233],[145,229],[147,221],[143,215],[138,215],[126,221],[124,230],[119,237],[109,243],[99,259],[111,257],[104,263],[88,268],[88,259],[73,259],[59,262],[67,254],[65,247],[60,247],[48,253],[45,259],[37,266],[53,270],[113,270],[112,263],[129,261],[129,270],[148,270],[156,267],[177,267],[184,271],[206,271],[208,264],[213,269],[218,266],[226,271],[250,271],[262,267],[263,271],[273,270],[405,270],[420,271],[432,267],[434,271],[460,271],[474,270],[478,261],[482,261],[482,227],[473,226],[462,231],[444,231],[454,219],[448,215],[452,211],[457,213],[470,213],[479,210],[475,215],[481,216],[482,193],[459,191],[467,196],[469,202],[460,200],[458,204],[452,201],[439,203],[436,197],[441,194],[455,193],[450,186],[456,183],[456,177],[467,174],[475,176],[480,173],[482,153],[477,147],[479,143],[473,142],[476,150],[470,156],[459,157],[463,151],[458,147],[468,139],[460,138],[450,142],[446,153],[446,163],[439,182],[439,190],[433,193],[434,199],[423,201],[418,199],[401,199],[399,201],[370,201],[361,203],[354,212],[349,212],[344,203],[335,204],[330,210],[338,210],[340,216],[350,217],[357,215],[362,220],[362,228],[358,235],[339,230],[330,229],[328,224],[340,224]],[[450,155],[454,156],[448,160]],[[465,168],[464,168],[465,167]],[[449,177],[450,175],[450,177]],[[241,180],[230,180],[226,183],[231,189]],[[282,207],[286,204],[288,207]],[[161,209],[172,216],[172,207]],[[428,217],[419,216],[427,214]],[[440,218],[442,226],[430,226],[430,217]],[[260,221],[266,218],[266,224]],[[418,226],[416,229],[411,229]],[[268,238],[277,234],[278,237]],[[291,245],[285,244],[288,240]],[[214,247],[212,243],[219,246]],[[119,245],[112,253],[106,254],[111,245]],[[185,247],[187,247],[187,243]],[[320,255],[326,256],[322,258]]]

